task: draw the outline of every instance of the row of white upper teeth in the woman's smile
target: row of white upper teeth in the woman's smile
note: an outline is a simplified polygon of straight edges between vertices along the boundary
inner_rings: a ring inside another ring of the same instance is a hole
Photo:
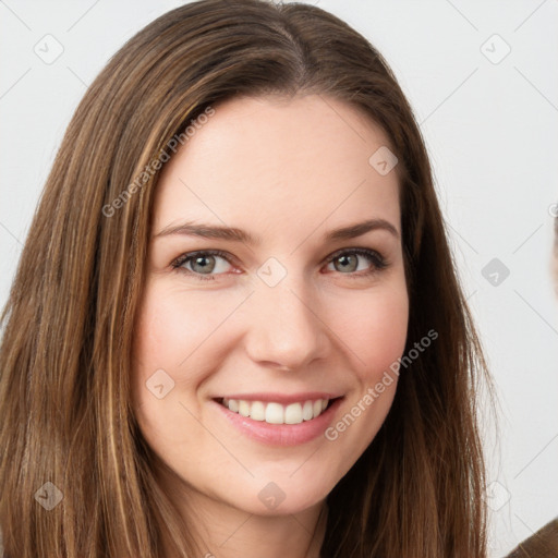
[[[301,401],[282,405],[281,403],[264,403],[263,401],[245,401],[242,399],[223,398],[222,404],[233,413],[250,416],[254,421],[269,424],[300,424],[319,416],[327,408],[329,399]]]

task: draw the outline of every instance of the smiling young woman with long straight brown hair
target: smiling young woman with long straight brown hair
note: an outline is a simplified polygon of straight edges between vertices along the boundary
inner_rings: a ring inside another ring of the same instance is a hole
[[[487,373],[426,149],[323,10],[203,0],[133,37],[3,324],[7,557],[486,556]]]

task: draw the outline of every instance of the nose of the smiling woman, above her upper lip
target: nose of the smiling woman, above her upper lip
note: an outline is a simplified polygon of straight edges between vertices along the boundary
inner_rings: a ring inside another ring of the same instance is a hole
[[[258,284],[251,296],[245,343],[248,356],[260,366],[304,369],[329,350],[318,296],[293,275],[275,287]]]

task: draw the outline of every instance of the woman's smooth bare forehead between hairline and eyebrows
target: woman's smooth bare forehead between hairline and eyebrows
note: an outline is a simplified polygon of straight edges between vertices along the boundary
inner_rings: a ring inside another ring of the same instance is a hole
[[[199,219],[300,236],[360,218],[399,228],[397,169],[371,163],[389,142],[363,111],[322,95],[233,98],[214,110],[161,170],[155,229]]]

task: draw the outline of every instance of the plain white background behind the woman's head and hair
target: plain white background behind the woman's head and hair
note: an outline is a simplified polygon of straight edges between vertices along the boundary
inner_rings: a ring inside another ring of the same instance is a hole
[[[181,3],[0,2],[0,304],[86,86],[124,40]],[[550,276],[558,1],[312,3],[347,21],[387,58],[426,138],[498,388],[500,437],[494,445],[487,428],[486,440],[490,556],[504,556],[558,515],[558,304]],[[34,51],[53,40],[47,34],[63,47],[50,64]],[[493,258],[500,262],[490,279],[497,284],[483,276]],[[505,279],[501,265],[509,269]]]

